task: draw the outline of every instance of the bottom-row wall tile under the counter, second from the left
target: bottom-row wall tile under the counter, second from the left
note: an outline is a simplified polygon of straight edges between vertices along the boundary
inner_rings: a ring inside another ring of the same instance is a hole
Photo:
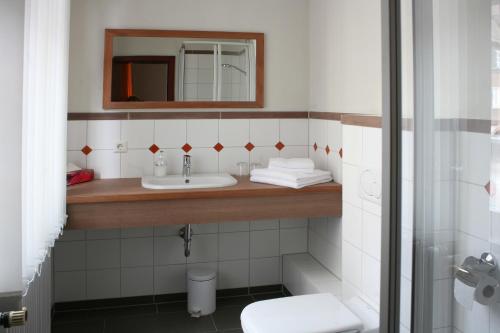
[[[87,299],[120,297],[120,269],[87,271]]]

